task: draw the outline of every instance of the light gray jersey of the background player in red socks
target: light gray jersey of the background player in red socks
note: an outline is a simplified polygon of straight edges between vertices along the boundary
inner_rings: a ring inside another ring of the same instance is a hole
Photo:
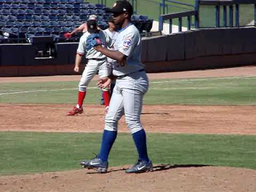
[[[92,49],[90,49],[89,51],[86,52],[86,49],[85,49],[86,40],[89,35],[91,35],[91,34],[87,31],[80,37],[79,45],[77,48],[77,53],[85,54],[86,59],[107,59],[106,55],[103,55],[101,52],[96,51],[93,47],[92,47]],[[102,45],[103,47],[111,46],[111,42],[112,42],[111,38],[104,31],[100,30],[99,36],[103,43],[103,45]]]

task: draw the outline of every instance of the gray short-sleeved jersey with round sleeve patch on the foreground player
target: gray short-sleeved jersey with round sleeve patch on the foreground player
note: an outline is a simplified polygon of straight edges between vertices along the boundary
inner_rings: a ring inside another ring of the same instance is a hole
[[[114,49],[125,54],[127,60],[124,67],[117,67],[117,61],[114,62],[113,75],[130,74],[144,68],[140,59],[141,37],[134,25],[130,24],[118,32]]]

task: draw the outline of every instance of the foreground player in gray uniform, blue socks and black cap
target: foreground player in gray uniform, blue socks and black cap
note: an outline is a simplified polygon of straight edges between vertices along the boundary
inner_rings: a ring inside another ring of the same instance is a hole
[[[90,161],[81,162],[81,165],[101,173],[107,172],[108,155],[116,139],[117,123],[125,115],[125,121],[139,154],[138,161],[125,172],[146,172],[152,170],[153,165],[147,154],[146,133],[140,123],[142,99],[148,90],[148,77],[140,60],[141,37],[138,29],[131,24],[133,9],[129,2],[117,1],[109,11],[113,13],[115,23],[122,26],[118,31],[115,50],[102,46],[95,46],[94,49],[116,60],[113,64],[116,85],[105,117],[100,153]],[[103,78],[98,85],[108,86],[111,78]]]

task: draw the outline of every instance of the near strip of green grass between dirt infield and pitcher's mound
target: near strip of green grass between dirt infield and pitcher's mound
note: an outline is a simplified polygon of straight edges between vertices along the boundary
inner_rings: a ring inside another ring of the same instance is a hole
[[[79,169],[78,162],[98,153],[100,133],[0,132],[0,174]],[[201,164],[256,169],[256,137],[148,133],[155,164]],[[109,166],[133,164],[137,152],[128,133],[119,133]]]

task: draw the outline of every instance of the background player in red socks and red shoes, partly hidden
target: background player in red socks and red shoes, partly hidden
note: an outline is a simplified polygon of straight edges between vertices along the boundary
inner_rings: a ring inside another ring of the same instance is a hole
[[[102,46],[111,46],[111,39],[102,30],[97,29],[96,20],[87,21],[87,30],[88,31],[84,33],[84,35],[80,38],[79,41],[74,71],[79,71],[79,66],[82,62],[84,55],[88,62],[86,64],[86,67],[83,71],[83,75],[79,82],[77,105],[71,111],[68,112],[68,115],[76,115],[83,113],[82,105],[86,95],[86,88],[90,83],[91,79],[98,72],[98,70],[99,76],[101,78],[107,77],[110,73],[110,67],[108,65],[106,55],[103,55],[101,52],[98,52],[97,50],[93,49],[93,46],[91,46],[90,43],[95,42],[92,35],[94,35],[94,37],[99,36],[98,40],[101,41],[99,43],[102,44]],[[103,89],[103,97],[105,100],[105,106],[108,107],[110,101],[109,87],[105,87]]]

